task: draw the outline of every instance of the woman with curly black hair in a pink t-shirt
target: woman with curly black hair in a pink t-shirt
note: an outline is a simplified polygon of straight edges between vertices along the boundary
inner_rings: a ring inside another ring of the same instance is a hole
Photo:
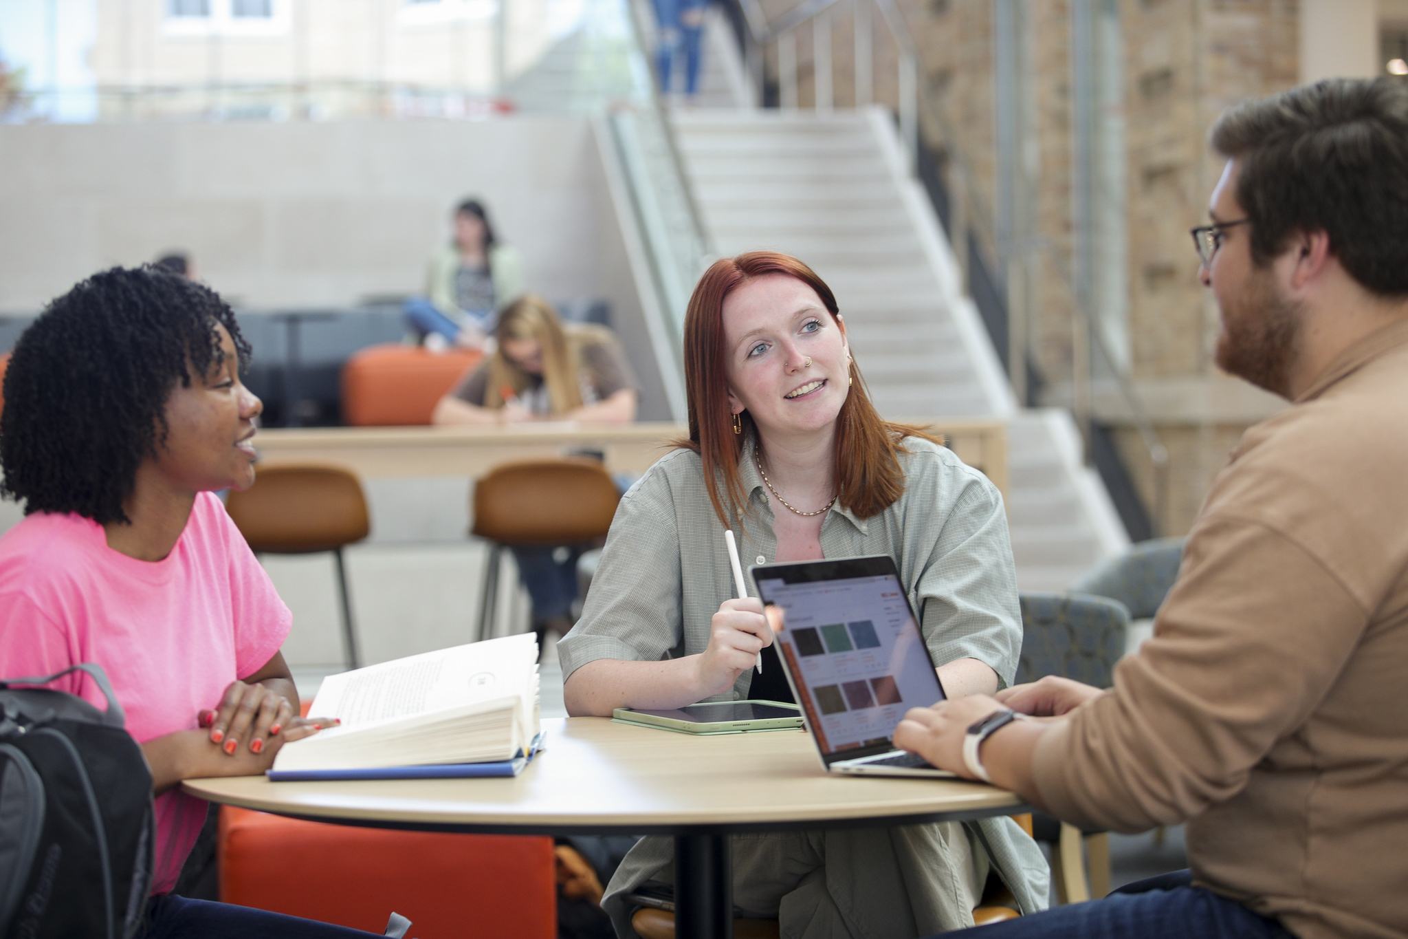
[[[107,672],[155,788],[144,939],[370,935],[170,894],[206,817],[180,781],[262,773],[318,729],[289,608],[213,494],[255,481],[248,358],[208,287],[114,267],[49,304],[4,380],[0,494],[25,518],[0,538],[0,676]],[[82,674],[55,687],[103,707]]]

